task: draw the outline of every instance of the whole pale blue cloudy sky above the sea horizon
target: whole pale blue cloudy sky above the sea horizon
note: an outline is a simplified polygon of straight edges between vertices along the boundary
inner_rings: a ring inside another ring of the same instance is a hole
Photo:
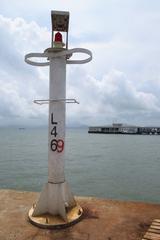
[[[70,12],[69,48],[93,61],[67,66],[67,124],[160,125],[159,0],[0,0],[0,126],[47,125],[48,67],[24,55],[50,46],[50,11]]]

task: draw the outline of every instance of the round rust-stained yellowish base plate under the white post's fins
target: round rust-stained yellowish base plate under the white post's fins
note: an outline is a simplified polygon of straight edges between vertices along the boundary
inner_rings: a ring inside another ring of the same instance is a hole
[[[60,229],[69,227],[79,222],[83,214],[83,210],[78,204],[72,209],[67,210],[67,222],[64,221],[60,216],[53,216],[49,213],[45,213],[37,217],[32,217],[33,211],[34,207],[29,210],[29,221],[37,227],[48,229]]]

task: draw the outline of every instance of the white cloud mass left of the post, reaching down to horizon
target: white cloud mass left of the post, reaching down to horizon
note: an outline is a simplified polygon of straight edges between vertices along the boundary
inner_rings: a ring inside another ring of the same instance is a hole
[[[32,48],[39,50],[48,32],[34,22],[27,24],[23,19],[3,16],[0,16],[0,31],[0,125],[23,124],[23,121],[34,124],[33,119],[39,117],[38,125],[41,121],[46,123],[46,110],[36,107],[33,99],[48,93],[48,79],[41,70],[27,66],[24,53]]]

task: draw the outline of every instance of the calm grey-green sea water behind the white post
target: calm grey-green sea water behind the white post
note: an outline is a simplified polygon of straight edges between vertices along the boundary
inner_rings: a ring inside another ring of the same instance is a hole
[[[47,128],[0,129],[0,188],[41,191]],[[160,202],[160,136],[67,129],[65,175],[75,195]]]

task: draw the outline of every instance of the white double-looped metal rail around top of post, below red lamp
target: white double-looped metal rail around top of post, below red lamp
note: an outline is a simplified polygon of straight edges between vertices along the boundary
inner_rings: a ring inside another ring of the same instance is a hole
[[[72,56],[73,53],[85,53],[89,57],[83,60],[66,60],[67,64],[84,64],[92,60],[92,52],[85,48],[74,48],[70,50],[64,50],[61,52],[44,52],[44,53],[29,53],[25,55],[25,62],[33,66],[49,66],[50,62],[35,62],[29,58],[55,58],[63,56]]]

